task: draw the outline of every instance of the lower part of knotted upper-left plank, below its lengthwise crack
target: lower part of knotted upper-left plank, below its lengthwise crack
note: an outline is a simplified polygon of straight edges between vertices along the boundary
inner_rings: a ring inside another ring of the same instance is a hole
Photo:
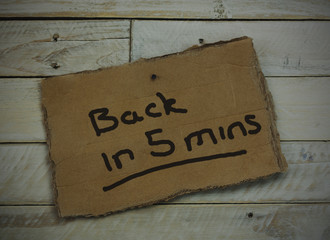
[[[0,55],[0,75],[62,75],[120,65],[128,61],[128,39],[34,42],[6,48]]]

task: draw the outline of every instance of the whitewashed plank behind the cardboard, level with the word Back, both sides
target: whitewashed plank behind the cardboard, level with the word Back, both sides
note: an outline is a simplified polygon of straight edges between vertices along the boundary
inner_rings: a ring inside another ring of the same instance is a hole
[[[281,140],[330,139],[330,78],[267,78]],[[0,141],[45,141],[40,79],[0,79]]]

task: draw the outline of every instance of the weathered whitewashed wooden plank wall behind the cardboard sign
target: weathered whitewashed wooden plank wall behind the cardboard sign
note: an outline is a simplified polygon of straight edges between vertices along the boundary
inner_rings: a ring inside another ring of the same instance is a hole
[[[0,239],[330,239],[329,20],[326,0],[0,1]],[[41,79],[242,35],[273,94],[286,173],[57,217]]]

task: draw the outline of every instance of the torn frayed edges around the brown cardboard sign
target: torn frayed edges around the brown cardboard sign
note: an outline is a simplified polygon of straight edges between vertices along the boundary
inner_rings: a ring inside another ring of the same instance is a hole
[[[219,42],[215,42],[215,43],[211,43],[211,44],[204,44],[202,46],[192,46],[182,52],[178,52],[178,53],[172,53],[172,54],[168,54],[168,55],[164,55],[164,56],[159,56],[159,57],[154,57],[154,58],[150,58],[150,59],[140,59],[140,60],[137,60],[133,63],[126,63],[126,64],[123,64],[121,66],[114,66],[114,67],[110,67],[110,68],[118,68],[118,67],[122,67],[122,66],[125,66],[125,65],[134,65],[134,64],[139,64],[141,62],[150,62],[150,61],[155,61],[157,59],[162,59],[162,58],[167,58],[167,57],[170,57],[170,56],[173,56],[173,55],[183,55],[183,54],[187,54],[187,53],[191,53],[191,52],[197,52],[197,51],[200,51],[204,48],[209,48],[209,47],[221,47],[225,44],[229,44],[229,43],[232,43],[232,42],[236,42],[236,41],[240,41],[240,40],[244,40],[244,39],[249,39],[249,37],[240,37],[240,38],[235,38],[235,39],[232,39],[232,40],[229,40],[229,41],[219,41]],[[255,53],[255,50],[253,49],[253,54],[254,54],[254,57],[255,57],[255,63],[254,63],[254,67],[256,69],[256,72],[258,73],[258,84],[259,84],[259,88],[264,96],[264,100],[267,104],[267,110],[270,114],[270,117],[271,117],[271,133],[272,133],[272,147],[273,147],[273,151],[274,153],[276,154],[276,158],[277,158],[277,164],[280,168],[280,171],[279,172],[283,172],[287,169],[288,165],[286,163],[286,160],[281,152],[281,146],[280,146],[280,139],[279,139],[279,133],[277,131],[277,127],[276,127],[276,114],[275,114],[275,111],[274,111],[274,104],[273,104],[273,99],[272,99],[272,96],[271,96],[271,93],[269,92],[268,90],[268,86],[267,86],[267,83],[266,83],[266,80],[264,78],[264,75],[260,69],[260,66],[259,66],[259,62],[258,62],[258,58],[256,56],[256,53]],[[76,74],[93,74],[95,72],[98,72],[98,71],[101,71],[101,70],[104,70],[104,69],[109,69],[109,68],[101,68],[101,69],[98,69],[98,70],[93,70],[93,71],[83,71],[83,72],[80,72],[80,73],[74,73],[74,74],[67,74],[67,75],[76,75]],[[52,78],[48,78],[47,80],[45,81],[50,81]],[[57,186],[56,186],[56,166],[55,166],[55,163],[52,159],[52,156],[51,156],[51,129],[49,128],[48,126],[48,121],[47,121],[47,110],[45,108],[45,106],[42,104],[42,108],[43,108],[43,112],[44,112],[44,124],[46,126],[46,133],[47,133],[47,144],[49,146],[49,158],[50,158],[50,161],[52,162],[52,168],[53,168],[53,192],[54,192],[54,202],[55,202],[55,206],[58,210],[58,214],[59,216],[62,216],[61,212],[60,212],[60,208],[58,206],[58,201],[57,201],[57,198],[58,198],[58,192],[57,192]],[[74,215],[74,216],[83,216],[83,217],[98,217],[98,216],[106,216],[106,215],[109,215],[109,214],[113,214],[113,213],[117,213],[117,212],[123,212],[123,211],[126,211],[128,209],[134,209],[134,208],[140,208],[140,207],[145,207],[145,206],[149,206],[149,205],[153,205],[153,204],[156,204],[156,203],[159,203],[159,202],[162,202],[162,201],[168,201],[170,199],[173,199],[177,196],[180,196],[180,195],[183,195],[183,194],[187,194],[187,193],[193,193],[193,192],[200,192],[200,191],[204,191],[204,190],[209,190],[209,189],[223,189],[223,188],[227,188],[229,186],[234,186],[234,185],[239,185],[243,182],[251,182],[251,181],[255,181],[257,179],[263,179],[263,178],[266,178],[266,177],[269,177],[271,175],[274,175],[276,173],[273,173],[273,174],[270,174],[270,175],[265,175],[265,176],[259,176],[259,177],[256,177],[256,178],[251,178],[251,179],[245,179],[244,181],[241,181],[241,182],[236,182],[236,183],[233,183],[233,184],[228,184],[228,185],[221,185],[221,186],[208,186],[208,187],[205,187],[205,188],[200,188],[200,189],[185,189],[185,190],[181,190],[177,193],[174,193],[166,198],[163,198],[163,199],[160,199],[160,200],[157,200],[157,201],[150,201],[150,202],[146,202],[144,204],[138,204],[136,206],[131,206],[131,207],[127,207],[127,208],[124,208],[124,209],[121,209],[121,210],[118,210],[118,211],[109,211],[109,212],[106,212],[104,214],[100,214],[100,215],[92,215],[92,214],[87,214],[87,215]],[[66,216],[65,216],[66,217]]]

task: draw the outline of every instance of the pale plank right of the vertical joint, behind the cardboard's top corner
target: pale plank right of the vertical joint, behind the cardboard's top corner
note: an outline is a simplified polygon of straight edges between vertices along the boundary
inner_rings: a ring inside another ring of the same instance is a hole
[[[192,45],[253,38],[265,76],[330,74],[330,22],[133,21],[132,60],[183,51]]]

